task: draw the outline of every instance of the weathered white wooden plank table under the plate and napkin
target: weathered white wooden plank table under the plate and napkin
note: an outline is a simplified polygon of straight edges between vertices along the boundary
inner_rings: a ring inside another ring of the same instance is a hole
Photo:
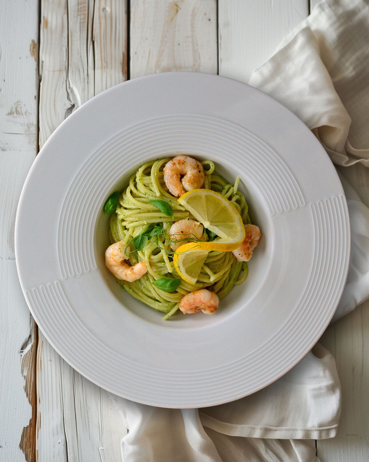
[[[14,257],[20,191],[53,130],[126,79],[176,70],[247,82],[317,0],[1,0],[0,462],[120,461],[122,419],[30,316]],[[342,169],[369,205],[369,172]],[[55,172],[57,175],[57,172]],[[321,462],[369,461],[369,303],[327,329],[342,385]]]

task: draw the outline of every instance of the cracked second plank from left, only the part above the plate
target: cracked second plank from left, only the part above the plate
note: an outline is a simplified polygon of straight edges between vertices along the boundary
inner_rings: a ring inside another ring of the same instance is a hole
[[[40,147],[90,97],[127,77],[126,0],[43,0]]]

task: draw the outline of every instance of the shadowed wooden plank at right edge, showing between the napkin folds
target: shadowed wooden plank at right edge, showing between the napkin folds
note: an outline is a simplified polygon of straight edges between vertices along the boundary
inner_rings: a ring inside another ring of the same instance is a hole
[[[356,164],[340,171],[368,207],[368,169]],[[321,343],[336,359],[342,411],[337,436],[317,441],[317,455],[321,462],[369,462],[369,300],[330,326]]]

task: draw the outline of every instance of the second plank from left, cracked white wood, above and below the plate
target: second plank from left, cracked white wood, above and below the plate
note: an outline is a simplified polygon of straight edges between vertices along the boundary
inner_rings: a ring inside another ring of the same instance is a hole
[[[126,79],[126,1],[42,0],[40,147],[71,112]],[[74,371],[42,333],[38,461],[120,460],[127,429],[108,393]]]

